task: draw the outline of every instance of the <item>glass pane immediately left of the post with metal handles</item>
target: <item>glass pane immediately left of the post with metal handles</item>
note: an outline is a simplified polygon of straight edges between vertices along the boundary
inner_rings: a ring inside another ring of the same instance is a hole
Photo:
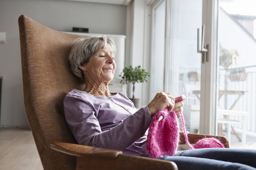
[[[184,118],[190,133],[200,133],[201,54],[197,53],[197,28],[202,27],[202,0],[174,0],[167,32],[165,89],[186,96]]]

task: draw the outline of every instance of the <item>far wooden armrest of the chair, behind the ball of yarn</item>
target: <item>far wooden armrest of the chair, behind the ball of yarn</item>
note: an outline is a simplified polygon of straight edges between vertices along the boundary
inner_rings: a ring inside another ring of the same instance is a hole
[[[226,137],[221,137],[221,136],[212,136],[212,135],[199,135],[199,134],[188,134],[188,141],[190,144],[196,144],[197,141],[199,141],[200,139],[203,138],[216,138],[218,140],[220,140],[220,142],[222,142],[222,144],[225,146],[225,148],[229,148],[229,143],[228,143],[228,139]],[[182,133],[180,133],[180,144],[186,144],[186,138]]]

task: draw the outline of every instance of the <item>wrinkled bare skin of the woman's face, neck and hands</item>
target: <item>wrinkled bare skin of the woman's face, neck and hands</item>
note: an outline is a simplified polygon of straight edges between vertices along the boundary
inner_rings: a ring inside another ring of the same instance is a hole
[[[116,63],[113,50],[108,43],[106,47],[99,49],[91,56],[89,63],[79,66],[79,68],[84,73],[85,92],[99,97],[111,96],[108,83],[114,78]],[[160,92],[148,104],[148,109],[153,117],[159,110],[168,107],[168,112],[174,109],[179,118],[180,111],[183,111],[182,101],[182,97],[175,100],[171,93]]]

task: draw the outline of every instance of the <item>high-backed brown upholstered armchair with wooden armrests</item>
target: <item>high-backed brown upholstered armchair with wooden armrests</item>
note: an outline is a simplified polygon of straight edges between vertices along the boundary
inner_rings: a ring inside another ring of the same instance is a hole
[[[84,89],[68,62],[71,44],[81,35],[52,30],[25,15],[19,17],[19,29],[25,110],[44,169],[177,169],[171,161],[78,145],[65,121],[63,100],[71,89]],[[202,137],[189,134],[191,143]],[[218,138],[228,147],[225,137]]]

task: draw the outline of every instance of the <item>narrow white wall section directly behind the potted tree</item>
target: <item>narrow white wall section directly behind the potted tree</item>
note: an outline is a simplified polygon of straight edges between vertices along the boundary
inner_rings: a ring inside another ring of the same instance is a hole
[[[132,0],[127,6],[125,67],[140,65],[150,72],[150,7],[147,0]],[[148,78],[150,81],[150,77]],[[132,84],[127,86],[128,97],[132,98]],[[139,107],[149,100],[149,82],[135,83],[135,98],[140,99]]]

